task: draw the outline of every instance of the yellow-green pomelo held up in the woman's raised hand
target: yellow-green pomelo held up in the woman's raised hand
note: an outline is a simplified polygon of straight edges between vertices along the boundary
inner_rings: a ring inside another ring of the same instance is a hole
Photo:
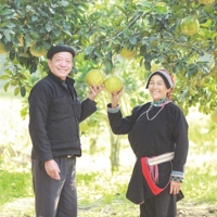
[[[116,92],[123,88],[123,81],[115,75],[108,76],[104,81],[104,88],[108,92]]]

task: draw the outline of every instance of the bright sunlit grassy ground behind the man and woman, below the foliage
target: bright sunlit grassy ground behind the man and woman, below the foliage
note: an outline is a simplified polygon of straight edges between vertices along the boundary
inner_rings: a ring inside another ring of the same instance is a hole
[[[20,101],[0,99],[0,216],[33,217],[27,122],[20,117]],[[217,216],[217,129],[207,124],[207,116],[192,114],[189,118],[190,152],[182,184],[184,200],[178,203],[179,216]],[[138,217],[138,206],[125,197],[135,163],[131,150],[127,144],[122,148],[122,166],[112,175],[110,152],[104,149],[98,155],[89,155],[87,138],[82,140],[84,156],[77,161],[78,216]],[[103,143],[104,138],[98,146]]]

